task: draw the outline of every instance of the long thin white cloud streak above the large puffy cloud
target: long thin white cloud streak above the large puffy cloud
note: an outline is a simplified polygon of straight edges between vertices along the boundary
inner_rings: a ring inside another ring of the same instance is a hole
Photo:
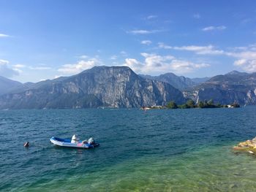
[[[197,46],[197,45],[188,45],[188,46],[181,46],[181,47],[172,47],[169,45],[165,45],[162,42],[158,43],[159,48],[163,49],[173,49],[173,50],[186,50],[186,51],[192,51],[199,55],[222,55],[224,54],[223,50],[217,50],[213,45],[207,45],[207,46]]]

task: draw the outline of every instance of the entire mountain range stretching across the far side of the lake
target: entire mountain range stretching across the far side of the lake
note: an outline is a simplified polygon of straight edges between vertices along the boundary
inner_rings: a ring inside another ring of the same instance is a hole
[[[0,77],[0,109],[143,107],[213,99],[256,104],[256,73],[189,79],[173,73],[138,75],[127,66],[95,66],[71,77],[20,83]]]

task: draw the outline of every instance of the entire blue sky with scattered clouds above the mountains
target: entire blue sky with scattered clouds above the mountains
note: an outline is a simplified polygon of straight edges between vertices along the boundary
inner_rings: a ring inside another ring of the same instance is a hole
[[[102,65],[256,72],[256,1],[0,0],[1,76],[38,82]]]

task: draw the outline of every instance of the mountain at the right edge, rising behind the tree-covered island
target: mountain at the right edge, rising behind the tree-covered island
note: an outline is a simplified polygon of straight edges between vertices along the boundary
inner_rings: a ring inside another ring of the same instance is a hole
[[[184,91],[184,96],[194,101],[213,99],[220,104],[256,104],[256,73],[233,71],[217,75]]]

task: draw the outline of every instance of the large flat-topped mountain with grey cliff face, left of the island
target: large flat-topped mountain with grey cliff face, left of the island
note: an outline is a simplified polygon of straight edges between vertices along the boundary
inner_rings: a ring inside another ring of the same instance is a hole
[[[183,103],[166,82],[148,80],[127,66],[95,66],[71,77],[29,83],[0,96],[1,109],[141,107]]]

